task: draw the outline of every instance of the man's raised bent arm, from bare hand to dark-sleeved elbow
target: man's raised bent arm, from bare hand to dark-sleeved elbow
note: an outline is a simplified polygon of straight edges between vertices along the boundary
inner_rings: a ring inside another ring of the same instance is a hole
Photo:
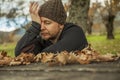
[[[37,47],[41,43],[41,38],[38,36],[41,24],[40,16],[38,15],[39,9],[40,6],[37,2],[30,3],[29,12],[32,19],[32,25],[17,43],[15,56],[18,56],[21,52],[37,53],[39,49],[41,49]]]

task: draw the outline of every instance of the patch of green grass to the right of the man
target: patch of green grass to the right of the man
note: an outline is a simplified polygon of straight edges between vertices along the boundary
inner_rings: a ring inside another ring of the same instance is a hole
[[[107,40],[106,35],[87,36],[88,42],[101,54],[120,53],[120,34],[115,35],[115,39]]]

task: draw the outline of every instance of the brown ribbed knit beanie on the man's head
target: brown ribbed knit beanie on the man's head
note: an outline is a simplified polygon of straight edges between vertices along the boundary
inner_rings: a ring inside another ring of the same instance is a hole
[[[61,0],[48,0],[45,2],[40,7],[39,15],[59,24],[65,24],[67,17]]]

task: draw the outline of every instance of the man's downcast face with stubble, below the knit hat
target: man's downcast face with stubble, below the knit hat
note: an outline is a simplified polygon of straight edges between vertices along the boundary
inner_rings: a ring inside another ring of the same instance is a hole
[[[58,36],[60,30],[63,29],[63,26],[61,26],[59,23],[45,18],[41,17],[41,37],[44,40],[54,40]]]

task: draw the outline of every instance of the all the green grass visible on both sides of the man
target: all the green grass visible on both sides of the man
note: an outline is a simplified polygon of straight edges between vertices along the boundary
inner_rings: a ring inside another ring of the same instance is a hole
[[[120,53],[120,34],[116,34],[114,40],[107,40],[106,35],[87,36],[87,40],[92,45],[92,48],[101,54]],[[14,57],[15,45],[16,43],[0,44],[0,51],[5,50],[9,56]]]

